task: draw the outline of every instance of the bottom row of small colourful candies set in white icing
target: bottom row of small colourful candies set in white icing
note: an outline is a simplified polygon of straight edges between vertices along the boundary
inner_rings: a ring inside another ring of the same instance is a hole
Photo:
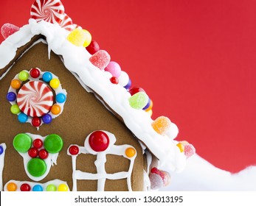
[[[8,185],[11,185],[11,190],[8,190]],[[9,180],[4,185],[4,191],[69,191],[69,185],[58,179],[45,183]]]

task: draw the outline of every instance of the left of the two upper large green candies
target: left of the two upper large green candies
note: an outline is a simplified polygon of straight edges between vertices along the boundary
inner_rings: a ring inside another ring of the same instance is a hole
[[[27,152],[32,145],[32,138],[29,135],[21,133],[13,139],[13,147],[17,152]]]

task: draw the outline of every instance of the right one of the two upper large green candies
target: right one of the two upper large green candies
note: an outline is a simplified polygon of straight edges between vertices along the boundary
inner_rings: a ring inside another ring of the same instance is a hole
[[[59,135],[48,135],[44,140],[44,148],[49,153],[58,153],[63,147],[62,138]]]

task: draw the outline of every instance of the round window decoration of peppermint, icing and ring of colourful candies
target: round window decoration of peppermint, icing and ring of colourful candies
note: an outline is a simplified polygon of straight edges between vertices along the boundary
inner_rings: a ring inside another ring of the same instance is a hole
[[[7,100],[12,105],[11,113],[18,116],[19,122],[30,123],[39,129],[42,124],[50,124],[53,118],[60,116],[66,95],[55,74],[31,68],[15,75],[10,82]]]

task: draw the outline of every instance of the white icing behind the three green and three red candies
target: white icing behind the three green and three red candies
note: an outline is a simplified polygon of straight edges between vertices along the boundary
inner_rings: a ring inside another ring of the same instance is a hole
[[[59,152],[52,153],[52,152],[47,151],[47,149],[45,148],[44,142],[45,142],[45,139],[47,137],[49,137],[49,135],[47,135],[45,137],[42,137],[41,135],[34,135],[34,134],[31,134],[31,133],[25,133],[25,134],[28,135],[32,139],[31,142],[35,141],[36,139],[39,139],[43,142],[43,145],[38,149],[38,155],[36,157],[31,157],[30,154],[29,154],[29,150],[27,152],[18,152],[18,154],[20,154],[21,157],[23,157],[24,169],[26,171],[27,176],[30,177],[31,180],[34,180],[34,181],[38,182],[38,181],[43,180],[47,176],[47,174],[49,174],[51,166],[54,166],[54,164],[57,165],[57,158],[58,158]],[[23,135],[23,134],[21,134],[21,135]],[[17,136],[18,135],[16,135],[15,138]],[[52,142],[52,144],[54,144],[54,143],[55,142]],[[30,146],[30,149],[32,149],[32,148],[33,148],[33,144]],[[61,146],[61,148],[62,148],[62,146]],[[45,159],[41,159],[41,157],[39,155],[39,152],[42,149],[45,149],[48,152],[48,157],[46,157]],[[15,148],[15,150],[17,150],[17,149]],[[42,172],[42,174],[38,177],[30,174],[30,171],[28,169],[28,163],[33,159],[40,159],[39,160],[40,163],[42,163],[44,161],[44,163],[46,165],[46,170],[44,171],[44,173]]]

